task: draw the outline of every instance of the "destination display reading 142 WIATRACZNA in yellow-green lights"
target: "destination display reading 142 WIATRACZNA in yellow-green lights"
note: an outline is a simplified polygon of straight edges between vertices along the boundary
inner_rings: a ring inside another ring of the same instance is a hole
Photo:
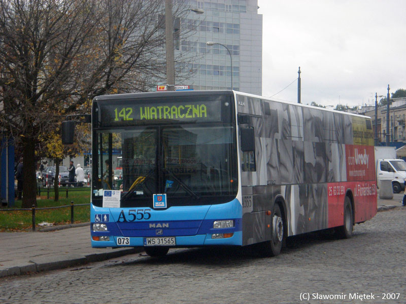
[[[100,126],[129,126],[154,123],[220,122],[220,100],[171,103],[100,102]]]

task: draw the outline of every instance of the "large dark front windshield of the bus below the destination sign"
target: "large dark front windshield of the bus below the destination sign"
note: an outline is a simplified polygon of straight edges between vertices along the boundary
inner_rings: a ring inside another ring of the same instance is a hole
[[[222,124],[99,130],[93,199],[103,196],[103,189],[122,190],[121,207],[143,206],[152,202],[153,194],[166,194],[169,202],[177,198],[171,205],[204,204],[209,198],[213,204],[213,197],[217,203],[221,197],[235,197],[234,133],[233,127]],[[122,179],[109,177],[109,148],[121,150]]]

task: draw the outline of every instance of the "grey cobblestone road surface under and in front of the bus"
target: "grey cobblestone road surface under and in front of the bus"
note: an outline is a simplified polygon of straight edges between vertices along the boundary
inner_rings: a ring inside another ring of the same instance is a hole
[[[132,254],[5,277],[0,302],[405,303],[405,219],[406,208],[397,207],[356,225],[349,240],[297,236],[274,258],[247,249],[177,249],[160,259]]]

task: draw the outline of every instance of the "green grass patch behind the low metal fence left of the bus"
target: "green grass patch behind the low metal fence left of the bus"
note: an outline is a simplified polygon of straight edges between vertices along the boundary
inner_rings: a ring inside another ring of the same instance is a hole
[[[36,209],[36,229],[39,229],[38,225],[41,222],[54,223],[54,225],[70,224],[71,223],[71,202],[74,205],[77,204],[89,204],[90,203],[90,188],[73,188],[69,189],[68,198],[66,198],[65,188],[59,189],[59,200],[54,201],[54,192],[51,188],[50,199],[47,199],[46,189],[41,189],[41,196],[37,197],[37,208],[43,207],[59,207],[66,206],[57,209]],[[18,209],[21,208],[21,201],[16,201],[13,208],[5,209]],[[74,207],[74,222],[88,222],[90,218],[90,206],[75,206]],[[32,230],[32,212],[31,210],[24,211],[0,211],[0,231],[29,231]]]

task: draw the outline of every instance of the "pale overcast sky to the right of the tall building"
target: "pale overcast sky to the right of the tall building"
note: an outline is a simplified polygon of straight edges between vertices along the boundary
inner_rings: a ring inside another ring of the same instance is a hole
[[[388,84],[390,93],[406,89],[406,0],[258,0],[258,6],[263,96],[296,102],[299,66],[305,104],[375,104],[375,92],[386,96]]]

